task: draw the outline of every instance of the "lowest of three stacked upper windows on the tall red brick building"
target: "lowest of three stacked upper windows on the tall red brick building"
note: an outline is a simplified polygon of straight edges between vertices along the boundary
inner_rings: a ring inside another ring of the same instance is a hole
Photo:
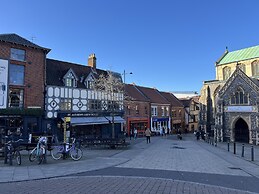
[[[10,89],[9,90],[9,107],[23,107],[23,90],[22,89]]]

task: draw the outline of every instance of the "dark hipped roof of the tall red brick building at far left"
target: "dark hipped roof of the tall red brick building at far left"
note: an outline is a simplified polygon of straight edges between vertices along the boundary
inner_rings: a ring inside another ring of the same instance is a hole
[[[17,34],[0,34],[0,41],[9,42],[9,43],[13,43],[13,44],[19,44],[22,46],[32,47],[32,48],[36,48],[36,49],[41,49],[41,50],[46,51],[47,53],[50,51],[50,49],[41,47],[37,44],[34,44]]]

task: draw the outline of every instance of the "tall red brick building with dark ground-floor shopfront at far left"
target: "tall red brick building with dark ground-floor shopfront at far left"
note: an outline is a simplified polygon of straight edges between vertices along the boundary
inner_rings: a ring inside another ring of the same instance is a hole
[[[49,51],[16,34],[0,34],[0,136],[42,128]]]

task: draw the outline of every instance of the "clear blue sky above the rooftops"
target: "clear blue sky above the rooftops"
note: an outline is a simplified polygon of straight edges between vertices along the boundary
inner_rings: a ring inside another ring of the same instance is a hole
[[[0,33],[51,49],[48,58],[97,68],[161,91],[200,92],[215,61],[259,44],[258,0],[1,0]]]

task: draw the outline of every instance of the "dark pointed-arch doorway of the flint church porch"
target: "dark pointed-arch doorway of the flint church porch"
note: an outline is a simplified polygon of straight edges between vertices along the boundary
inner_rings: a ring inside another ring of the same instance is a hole
[[[240,118],[235,124],[235,141],[249,143],[249,129],[244,119]]]

